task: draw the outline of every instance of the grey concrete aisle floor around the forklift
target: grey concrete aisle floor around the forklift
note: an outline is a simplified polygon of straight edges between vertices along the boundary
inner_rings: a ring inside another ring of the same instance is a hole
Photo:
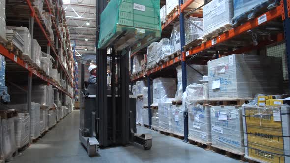
[[[141,126],[137,129],[139,133],[153,135],[151,150],[133,144],[103,149],[99,157],[90,158],[78,140],[78,129],[79,111],[73,111],[9,163],[240,163]]]

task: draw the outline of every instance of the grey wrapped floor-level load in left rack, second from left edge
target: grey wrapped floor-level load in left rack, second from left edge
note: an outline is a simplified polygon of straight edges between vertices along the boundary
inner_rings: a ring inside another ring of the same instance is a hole
[[[15,117],[15,141],[16,147],[21,148],[29,143],[30,116],[28,113],[18,113]]]

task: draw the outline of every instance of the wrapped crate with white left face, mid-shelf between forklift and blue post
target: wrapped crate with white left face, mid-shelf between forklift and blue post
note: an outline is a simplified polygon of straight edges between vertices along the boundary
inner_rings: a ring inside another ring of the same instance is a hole
[[[164,103],[168,98],[174,98],[176,93],[175,78],[155,78],[153,80],[153,106]]]

